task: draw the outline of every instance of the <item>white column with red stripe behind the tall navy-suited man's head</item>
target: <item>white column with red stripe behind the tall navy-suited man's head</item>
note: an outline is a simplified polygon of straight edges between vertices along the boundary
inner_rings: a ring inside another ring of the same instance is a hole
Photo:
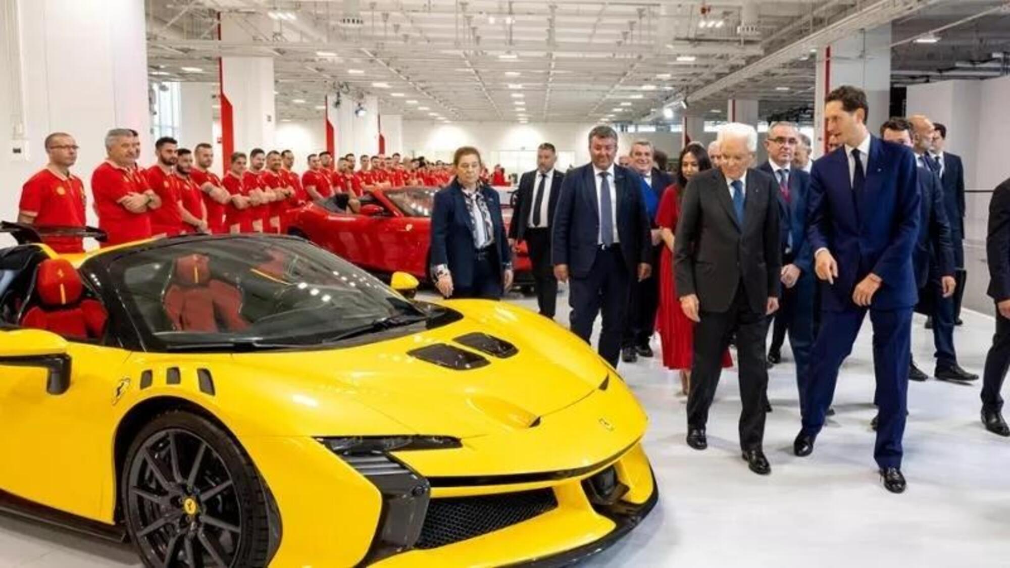
[[[891,109],[891,24],[860,30],[817,52],[814,83],[814,152],[824,154],[824,97],[851,85],[866,91],[870,104],[867,126],[877,132]]]

